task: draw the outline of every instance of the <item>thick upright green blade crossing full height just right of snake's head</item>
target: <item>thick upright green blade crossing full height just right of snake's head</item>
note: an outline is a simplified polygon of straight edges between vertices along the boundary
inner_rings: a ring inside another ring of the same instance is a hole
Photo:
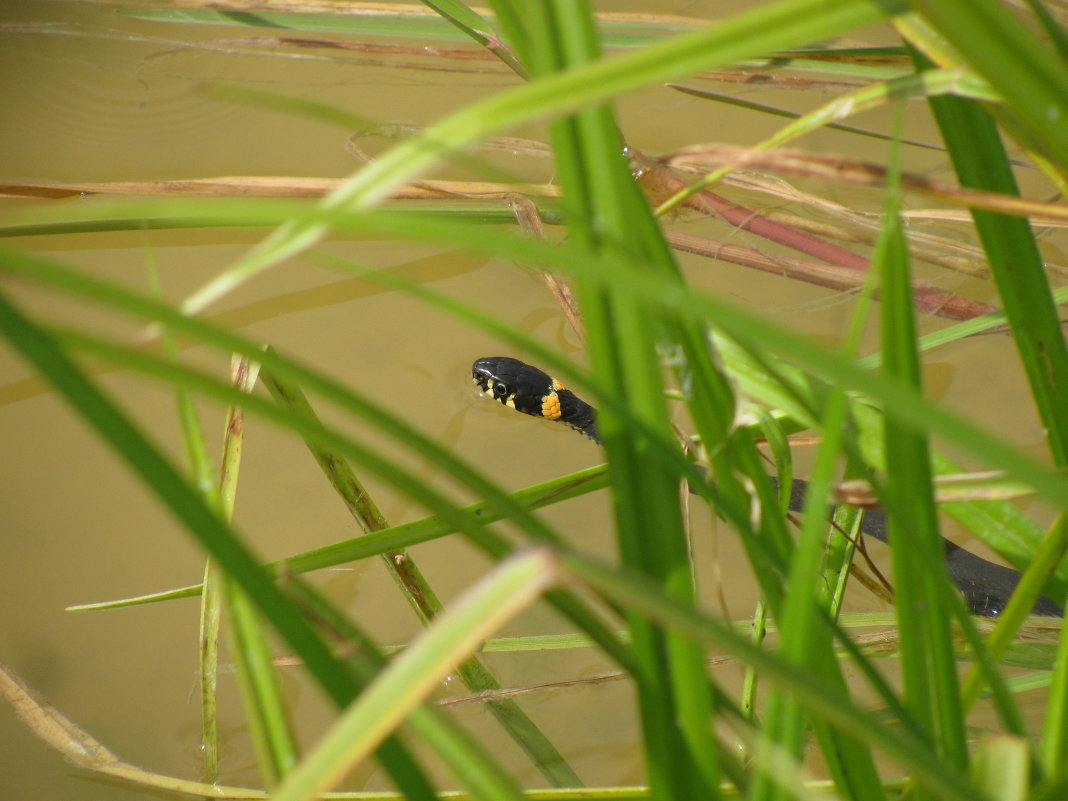
[[[596,63],[599,44],[586,3],[548,3],[529,14],[527,51],[544,54],[538,79],[571,74]],[[535,36],[534,31],[540,35]],[[554,151],[564,188],[571,236],[604,254],[628,252],[647,258],[661,274],[677,274],[670,252],[631,179],[623,142],[611,109],[594,107],[554,123]],[[593,373],[626,398],[634,417],[668,430],[668,409],[657,351],[660,326],[649,326],[644,305],[613,297],[611,289],[577,286],[584,315]],[[670,593],[693,601],[688,546],[679,503],[678,478],[650,469],[644,438],[602,409],[599,427],[613,476],[613,503],[619,553],[626,564],[647,571]],[[714,797],[720,783],[720,747],[711,736],[712,698],[703,655],[689,641],[629,619],[638,691],[653,791],[677,797]],[[666,671],[666,675],[663,674]],[[654,677],[660,673],[659,680]]]

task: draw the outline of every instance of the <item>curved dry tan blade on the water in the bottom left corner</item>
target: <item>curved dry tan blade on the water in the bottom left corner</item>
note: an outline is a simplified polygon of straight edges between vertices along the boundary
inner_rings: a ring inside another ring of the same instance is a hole
[[[44,701],[7,665],[0,662],[0,694],[6,698],[22,724],[74,765],[95,773],[121,779],[143,787],[205,798],[261,799],[267,794],[245,787],[189,782],[153,773],[120,759],[110,749],[77,723]]]

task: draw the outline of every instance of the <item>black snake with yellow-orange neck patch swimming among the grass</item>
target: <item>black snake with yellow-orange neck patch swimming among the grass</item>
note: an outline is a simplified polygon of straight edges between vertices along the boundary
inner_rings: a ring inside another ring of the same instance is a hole
[[[471,366],[471,378],[483,393],[511,409],[535,418],[553,420],[570,426],[600,444],[597,410],[543,370],[507,356],[484,357]],[[772,477],[772,481],[775,481]],[[790,487],[789,508],[804,506],[807,484],[795,480]],[[861,532],[881,543],[889,543],[886,513],[879,508],[864,511]],[[945,537],[946,572],[960,591],[972,614],[998,617],[1020,583],[1020,574],[972,553]],[[1061,617],[1064,610],[1039,596],[1032,614]]]

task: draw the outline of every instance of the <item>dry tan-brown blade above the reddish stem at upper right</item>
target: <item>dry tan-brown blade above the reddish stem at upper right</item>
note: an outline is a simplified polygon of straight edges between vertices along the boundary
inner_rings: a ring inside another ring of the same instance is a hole
[[[663,166],[688,172],[711,172],[720,167],[744,167],[773,173],[803,175],[836,184],[884,186],[886,169],[880,164],[834,154],[799,150],[761,151],[733,144],[703,144],[679,151],[662,160]],[[915,173],[901,173],[906,189],[923,192],[969,208],[1028,217],[1037,220],[1068,221],[1068,205],[1031,201],[998,192],[962,189],[931,180]]]

